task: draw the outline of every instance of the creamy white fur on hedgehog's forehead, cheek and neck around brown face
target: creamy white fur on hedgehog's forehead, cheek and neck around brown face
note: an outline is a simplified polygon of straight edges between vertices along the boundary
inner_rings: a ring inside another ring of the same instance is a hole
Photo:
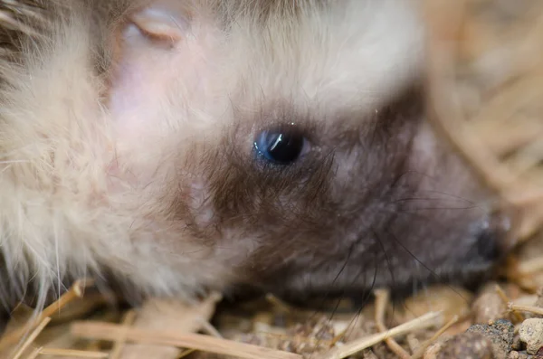
[[[24,67],[2,69],[12,86],[0,112],[0,245],[10,277],[22,287],[35,278],[44,293],[65,273],[84,277],[107,264],[160,294],[227,284],[246,258],[240,249],[256,243],[203,248],[170,221],[160,198],[178,159],[195,136],[206,144],[221,136],[232,101],[257,109],[289,99],[319,118],[375,110],[419,71],[421,29],[410,6],[330,2],[324,12],[309,8],[299,25],[278,20],[262,33],[250,18],[222,33],[202,12],[172,49],[132,28],[109,109],[85,22],[63,25]],[[196,206],[206,184],[194,181]]]

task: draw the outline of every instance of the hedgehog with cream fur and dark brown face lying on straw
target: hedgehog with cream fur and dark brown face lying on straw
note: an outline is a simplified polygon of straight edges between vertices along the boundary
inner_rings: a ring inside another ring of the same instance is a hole
[[[472,282],[510,215],[433,130],[410,0],[4,0],[0,300]],[[250,289],[249,289],[250,288]]]

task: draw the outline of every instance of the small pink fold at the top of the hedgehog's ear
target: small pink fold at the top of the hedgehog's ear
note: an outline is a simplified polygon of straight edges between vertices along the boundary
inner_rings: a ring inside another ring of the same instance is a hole
[[[182,39],[189,27],[186,14],[183,13],[173,1],[157,1],[156,4],[133,14],[131,20],[142,33],[176,43]]]

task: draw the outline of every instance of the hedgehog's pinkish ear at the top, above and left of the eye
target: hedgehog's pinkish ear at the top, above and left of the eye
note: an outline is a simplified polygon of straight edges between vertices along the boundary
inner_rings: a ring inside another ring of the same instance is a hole
[[[138,127],[151,125],[130,118],[145,118],[143,114],[162,106],[174,83],[183,82],[187,88],[196,85],[195,79],[184,75],[199,65],[206,39],[202,32],[207,31],[192,1],[143,1],[146,6],[129,9],[113,32],[109,87],[105,90],[110,113],[123,118],[116,124],[129,129],[126,133],[136,131],[139,135],[146,130]]]

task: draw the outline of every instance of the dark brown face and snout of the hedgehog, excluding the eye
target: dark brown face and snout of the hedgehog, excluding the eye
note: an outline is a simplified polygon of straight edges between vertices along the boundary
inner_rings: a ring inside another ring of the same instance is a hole
[[[469,168],[439,142],[430,153],[414,144],[428,129],[422,88],[370,116],[316,121],[288,103],[257,116],[243,123],[263,127],[233,126],[204,156],[214,217],[193,222],[202,241],[216,245],[235,233],[258,243],[235,284],[300,299],[413,281],[466,283],[489,274],[503,254],[507,228],[491,227],[498,219],[481,207],[489,194]],[[254,155],[247,137],[261,128],[292,130],[293,119],[310,138],[308,154],[291,165]],[[226,241],[236,245],[235,237]]]

